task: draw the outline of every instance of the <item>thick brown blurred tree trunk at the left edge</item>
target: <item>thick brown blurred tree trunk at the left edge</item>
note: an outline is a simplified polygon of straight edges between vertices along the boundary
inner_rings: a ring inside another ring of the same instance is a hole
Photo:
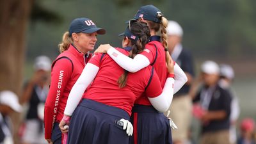
[[[26,31],[33,0],[0,1],[0,90],[20,95]],[[12,115],[17,132],[19,115]],[[15,136],[16,137],[16,136]],[[15,143],[18,143],[15,138]]]

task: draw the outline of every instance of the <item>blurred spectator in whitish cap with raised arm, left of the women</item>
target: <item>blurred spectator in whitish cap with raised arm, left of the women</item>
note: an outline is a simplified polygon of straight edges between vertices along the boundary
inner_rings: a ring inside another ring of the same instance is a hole
[[[21,103],[28,103],[28,111],[22,132],[23,144],[47,143],[44,139],[44,103],[49,91],[51,60],[38,56],[34,64],[35,73],[24,88]]]

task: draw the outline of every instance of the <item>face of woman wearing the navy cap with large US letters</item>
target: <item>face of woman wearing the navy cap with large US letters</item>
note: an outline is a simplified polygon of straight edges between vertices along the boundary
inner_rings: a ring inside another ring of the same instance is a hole
[[[97,42],[97,32],[94,33],[74,33],[74,45],[84,54],[93,51]],[[73,34],[72,34],[73,35]]]

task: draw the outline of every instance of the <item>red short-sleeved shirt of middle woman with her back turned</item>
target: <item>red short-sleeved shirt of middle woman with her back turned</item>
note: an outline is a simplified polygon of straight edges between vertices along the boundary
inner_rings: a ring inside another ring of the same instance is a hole
[[[129,54],[129,52],[124,49],[116,49],[125,55]],[[102,54],[95,54],[89,61],[89,63],[100,68],[95,80],[90,88],[88,88],[83,98],[124,109],[131,115],[134,101],[138,99],[143,92],[147,94],[147,97],[157,97],[163,92],[156,72],[152,75],[152,81],[145,90],[152,74],[152,66],[145,67],[136,73],[128,73],[126,86],[119,88],[117,81],[124,73],[124,69],[117,65],[108,54],[100,61],[101,56]]]

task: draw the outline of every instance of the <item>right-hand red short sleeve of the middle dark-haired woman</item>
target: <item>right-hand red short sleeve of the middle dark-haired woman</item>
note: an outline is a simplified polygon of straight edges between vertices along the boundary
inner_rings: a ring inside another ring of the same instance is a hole
[[[152,79],[147,87],[147,90],[145,91],[145,94],[147,95],[147,97],[157,97],[161,95],[162,92],[163,92],[163,89],[162,89],[159,77],[157,76],[157,73],[154,70]]]

